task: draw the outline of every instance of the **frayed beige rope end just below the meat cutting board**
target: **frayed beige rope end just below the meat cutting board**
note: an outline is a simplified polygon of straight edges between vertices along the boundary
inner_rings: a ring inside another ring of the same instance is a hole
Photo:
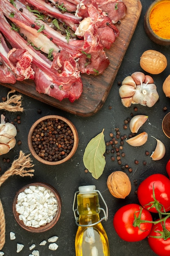
[[[15,90],[11,90],[10,92],[8,92],[7,101],[0,102],[0,110],[4,109],[11,112],[24,111],[24,108],[21,107],[22,105],[21,95],[14,94],[9,98],[9,94],[14,92]]]

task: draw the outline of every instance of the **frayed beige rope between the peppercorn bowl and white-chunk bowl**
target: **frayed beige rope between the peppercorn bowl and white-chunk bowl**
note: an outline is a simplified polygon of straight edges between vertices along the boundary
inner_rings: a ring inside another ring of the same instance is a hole
[[[11,167],[0,177],[0,186],[4,183],[8,177],[12,175],[20,175],[30,176],[32,177],[34,174],[34,170],[30,169],[34,166],[32,164],[32,160],[29,157],[30,154],[24,155],[22,151],[20,151],[20,155],[18,159],[14,160]],[[4,246],[5,243],[5,216],[4,216],[4,209],[2,206],[2,202],[0,200],[0,250]]]

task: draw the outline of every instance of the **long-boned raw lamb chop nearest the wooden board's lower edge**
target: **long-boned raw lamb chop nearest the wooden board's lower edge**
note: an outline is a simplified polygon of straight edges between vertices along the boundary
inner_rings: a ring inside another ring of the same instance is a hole
[[[33,48],[33,46],[28,45],[26,41],[13,29],[11,29],[11,26],[7,22],[6,18],[4,17],[2,11],[0,11],[0,31],[4,34],[4,36],[7,38],[9,43],[12,47],[15,48],[21,48],[26,49],[29,54],[33,56],[33,70],[35,71],[35,85],[37,85],[36,90],[38,90],[39,86],[41,86],[41,92],[46,93],[52,97],[55,97],[56,99],[59,99],[60,101],[64,98],[69,98],[71,101],[74,101],[75,99],[78,99],[82,92],[82,82],[80,76],[78,76],[78,70],[75,72],[72,72],[72,75],[68,74],[68,78],[62,76],[62,72],[54,72],[54,68],[51,69],[51,61],[44,56],[44,54],[41,54],[37,50]],[[68,54],[68,53],[67,53]],[[72,61],[72,59],[71,59]],[[67,68],[67,67],[65,67]],[[37,72],[37,74],[36,74]],[[41,81],[41,76],[44,77]],[[65,74],[65,73],[64,73]],[[47,90],[45,88],[46,83],[48,82],[48,85],[52,85],[52,90]],[[77,83],[76,83],[77,82]],[[69,84],[66,84],[69,83]],[[55,86],[54,86],[55,85]],[[67,86],[68,85],[68,86]],[[76,86],[79,86],[80,89],[76,90],[76,94],[74,88]],[[73,89],[72,89],[73,87]]]

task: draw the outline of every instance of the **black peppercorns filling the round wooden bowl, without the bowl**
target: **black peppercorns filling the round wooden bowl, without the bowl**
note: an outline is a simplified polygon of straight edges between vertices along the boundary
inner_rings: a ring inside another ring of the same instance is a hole
[[[71,152],[74,135],[64,121],[54,118],[47,119],[35,127],[32,144],[39,157],[46,161],[57,162]]]

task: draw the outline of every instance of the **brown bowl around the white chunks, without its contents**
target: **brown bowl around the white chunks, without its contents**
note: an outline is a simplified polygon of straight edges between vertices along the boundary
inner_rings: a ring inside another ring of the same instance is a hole
[[[29,186],[43,186],[45,189],[47,190],[50,190],[54,196],[55,196],[55,199],[57,200],[57,213],[56,215],[54,216],[53,220],[49,223],[47,223],[46,225],[44,226],[40,226],[40,227],[28,227],[24,224],[24,222],[22,220],[19,219],[19,213],[17,213],[16,211],[16,204],[17,204],[17,198],[18,198],[18,195],[25,191],[25,189],[28,189]],[[33,233],[40,233],[40,232],[44,232],[44,231],[47,231],[49,229],[51,229],[52,227],[54,227],[54,225],[57,223],[57,221],[59,220],[59,217],[60,217],[60,214],[61,214],[61,198],[59,196],[59,194],[57,193],[57,191],[50,185],[46,184],[46,183],[41,183],[41,182],[37,182],[37,183],[32,183],[32,184],[28,184],[24,187],[22,187],[22,189],[20,189],[15,197],[14,197],[14,200],[13,200],[13,214],[14,214],[14,217],[15,217],[15,220],[16,222],[20,225],[20,227],[22,227],[23,229],[27,230],[27,231],[30,231],[30,232],[33,232]]]

